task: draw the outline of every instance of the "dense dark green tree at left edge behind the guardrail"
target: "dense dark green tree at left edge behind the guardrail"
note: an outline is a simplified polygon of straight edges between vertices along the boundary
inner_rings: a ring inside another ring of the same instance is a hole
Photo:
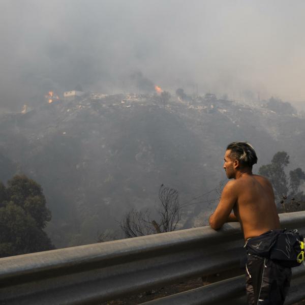
[[[51,212],[41,186],[16,175],[0,182],[0,257],[54,249],[44,228]]]

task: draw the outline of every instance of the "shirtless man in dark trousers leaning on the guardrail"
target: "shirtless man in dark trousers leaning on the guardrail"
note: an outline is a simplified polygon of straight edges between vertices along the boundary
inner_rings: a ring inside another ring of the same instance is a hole
[[[247,142],[233,142],[227,146],[224,160],[227,177],[234,180],[224,187],[209,218],[211,228],[217,230],[226,222],[238,221],[246,241],[280,229],[272,186],[265,177],[252,173],[252,166],[257,163],[254,148]],[[248,304],[284,303],[291,268],[248,254],[246,271]]]

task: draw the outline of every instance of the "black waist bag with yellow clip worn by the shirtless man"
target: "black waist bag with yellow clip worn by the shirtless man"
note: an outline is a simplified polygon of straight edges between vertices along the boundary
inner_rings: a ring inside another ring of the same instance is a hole
[[[296,267],[304,261],[304,239],[297,230],[270,230],[246,242],[249,254],[270,258],[284,267]]]

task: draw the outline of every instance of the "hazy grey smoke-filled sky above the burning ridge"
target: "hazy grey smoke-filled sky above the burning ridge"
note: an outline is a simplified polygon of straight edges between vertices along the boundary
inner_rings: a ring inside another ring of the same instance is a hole
[[[0,0],[0,109],[84,90],[305,100],[305,3]]]

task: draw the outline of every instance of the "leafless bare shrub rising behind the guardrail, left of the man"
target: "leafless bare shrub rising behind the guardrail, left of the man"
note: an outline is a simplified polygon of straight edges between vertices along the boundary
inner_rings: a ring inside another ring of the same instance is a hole
[[[148,210],[142,212],[131,209],[120,222],[120,228],[126,237],[144,236],[174,231],[181,219],[179,193],[163,184],[159,189],[160,204],[156,207],[160,219],[150,220]]]

